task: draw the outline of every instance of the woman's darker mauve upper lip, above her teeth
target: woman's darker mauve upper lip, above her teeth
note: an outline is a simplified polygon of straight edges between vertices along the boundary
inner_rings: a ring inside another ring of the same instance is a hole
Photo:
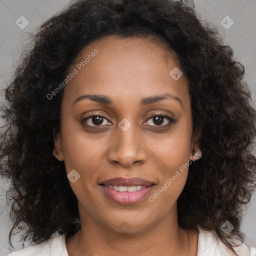
[[[115,178],[110,178],[107,180],[102,181],[100,184],[106,185],[106,186],[150,186],[154,184],[151,181],[138,178],[138,177],[133,177],[133,178],[123,178],[123,177],[115,177]]]

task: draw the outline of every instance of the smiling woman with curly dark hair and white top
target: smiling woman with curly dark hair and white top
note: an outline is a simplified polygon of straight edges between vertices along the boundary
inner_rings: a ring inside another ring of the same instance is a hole
[[[5,94],[9,242],[36,243],[9,255],[256,255],[243,73],[182,2],[79,0],[47,20]]]

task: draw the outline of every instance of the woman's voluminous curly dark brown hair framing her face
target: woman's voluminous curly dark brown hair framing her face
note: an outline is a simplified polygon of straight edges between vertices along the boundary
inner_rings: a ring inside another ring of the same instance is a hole
[[[10,180],[14,227],[24,221],[34,243],[76,227],[77,199],[63,161],[52,156],[53,131],[60,128],[63,89],[48,99],[89,42],[106,35],[154,35],[177,53],[189,80],[193,129],[200,131],[202,157],[189,166],[177,201],[184,229],[214,230],[234,252],[241,212],[255,189],[256,110],[244,67],[223,44],[217,29],[182,1],[77,0],[45,21],[4,89],[0,174]],[[221,224],[234,229],[226,234]],[[11,244],[12,246],[12,244]]]

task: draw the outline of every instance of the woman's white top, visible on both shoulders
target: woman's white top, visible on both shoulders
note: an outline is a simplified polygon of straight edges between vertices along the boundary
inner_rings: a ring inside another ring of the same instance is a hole
[[[7,256],[68,256],[65,234],[13,251]],[[239,256],[256,256],[256,248],[246,243],[235,247],[235,250]],[[215,232],[205,231],[199,228],[197,256],[233,256],[233,253],[224,246]]]

